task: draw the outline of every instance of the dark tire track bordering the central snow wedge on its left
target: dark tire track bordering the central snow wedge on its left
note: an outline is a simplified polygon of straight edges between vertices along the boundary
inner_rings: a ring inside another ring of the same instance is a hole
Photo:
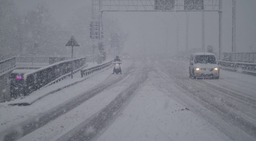
[[[150,71],[152,69],[149,69]],[[142,71],[139,71],[142,72]],[[86,119],[80,125],[70,130],[67,134],[61,136],[57,141],[91,141],[96,140],[103,134],[107,128],[117,119],[120,112],[130,103],[134,92],[148,78],[146,74],[138,74],[134,81],[127,89],[122,91],[111,103],[105,108]]]

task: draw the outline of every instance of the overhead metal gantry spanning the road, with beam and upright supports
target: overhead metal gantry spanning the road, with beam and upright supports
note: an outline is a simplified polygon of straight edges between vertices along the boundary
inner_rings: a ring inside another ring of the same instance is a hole
[[[219,59],[222,57],[222,0],[92,0],[90,36],[93,47],[103,38],[102,13],[117,12],[202,12],[202,51],[204,51],[204,12],[219,13]],[[188,28],[188,26],[187,26]]]

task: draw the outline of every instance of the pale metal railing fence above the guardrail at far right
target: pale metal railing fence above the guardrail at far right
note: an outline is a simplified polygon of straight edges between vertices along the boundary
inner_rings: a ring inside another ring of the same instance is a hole
[[[254,63],[256,62],[256,52],[223,53],[223,60]]]

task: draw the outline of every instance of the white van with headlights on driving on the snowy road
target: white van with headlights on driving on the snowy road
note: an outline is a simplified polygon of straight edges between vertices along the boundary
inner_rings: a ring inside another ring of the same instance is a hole
[[[209,52],[191,54],[189,78],[219,79],[219,67],[215,55]]]

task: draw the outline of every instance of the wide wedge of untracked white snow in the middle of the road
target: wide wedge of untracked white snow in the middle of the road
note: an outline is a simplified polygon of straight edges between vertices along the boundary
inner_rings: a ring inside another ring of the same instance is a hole
[[[210,123],[161,92],[155,74],[98,141],[230,141]],[[169,84],[169,93],[180,90]]]

